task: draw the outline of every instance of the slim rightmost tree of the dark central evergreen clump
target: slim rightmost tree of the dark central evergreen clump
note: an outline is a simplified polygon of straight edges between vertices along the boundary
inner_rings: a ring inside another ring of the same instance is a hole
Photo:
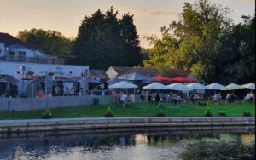
[[[133,23],[133,15],[124,14],[119,23],[125,49],[125,66],[142,65],[143,55],[140,53],[140,41]]]

